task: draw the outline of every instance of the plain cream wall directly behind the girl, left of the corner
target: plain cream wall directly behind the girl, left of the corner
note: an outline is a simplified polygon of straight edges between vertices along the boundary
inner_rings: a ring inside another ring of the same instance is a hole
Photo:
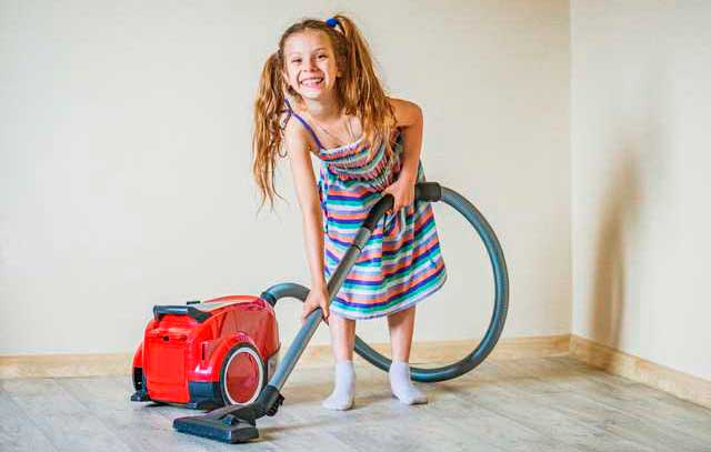
[[[499,232],[504,335],[570,331],[567,2],[0,0],[0,354],[130,351],[153,304],[308,282],[287,165],[289,203],[256,215],[251,104],[281,30],[336,10],[422,106],[429,178]],[[450,279],[417,339],[471,338],[492,278],[435,212]],[[298,307],[279,315],[289,340]]]

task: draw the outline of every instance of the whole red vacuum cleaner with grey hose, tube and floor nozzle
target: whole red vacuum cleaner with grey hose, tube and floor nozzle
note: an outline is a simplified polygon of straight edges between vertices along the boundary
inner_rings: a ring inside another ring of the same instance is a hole
[[[413,381],[445,381],[471,371],[493,350],[509,307],[509,277],[497,235],[471,202],[437,182],[418,183],[414,198],[415,202],[442,201],[461,213],[483,241],[493,271],[493,311],[474,350],[441,368],[410,369]],[[392,205],[392,195],[385,194],[370,210],[328,281],[330,301],[378,221]],[[322,320],[320,308],[311,312],[280,361],[274,305],[282,298],[304,301],[308,294],[303,285],[280,283],[260,297],[230,295],[184,305],[154,307],[153,319],[133,359],[136,392],[131,400],[180,403],[194,409],[221,406],[206,414],[178,418],[173,428],[227,443],[259,438],[257,420],[277,414],[284,400],[280,391]],[[359,337],[356,337],[356,352],[381,370],[390,369],[390,359]]]

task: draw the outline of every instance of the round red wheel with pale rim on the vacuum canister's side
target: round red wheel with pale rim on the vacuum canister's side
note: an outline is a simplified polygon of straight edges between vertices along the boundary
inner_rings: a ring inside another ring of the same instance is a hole
[[[232,346],[220,372],[220,389],[224,404],[251,403],[266,384],[266,365],[257,349],[243,343]]]

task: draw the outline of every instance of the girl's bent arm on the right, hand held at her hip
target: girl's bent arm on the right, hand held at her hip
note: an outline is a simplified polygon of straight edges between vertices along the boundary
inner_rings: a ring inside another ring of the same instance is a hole
[[[398,180],[384,192],[394,198],[393,211],[397,212],[414,201],[414,184],[418,180],[418,165],[422,149],[422,110],[415,103],[390,98],[395,122],[402,133],[402,169]]]

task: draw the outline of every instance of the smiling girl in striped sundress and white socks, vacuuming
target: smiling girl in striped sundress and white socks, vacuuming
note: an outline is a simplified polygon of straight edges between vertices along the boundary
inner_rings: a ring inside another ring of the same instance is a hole
[[[254,104],[253,172],[262,204],[273,207],[274,167],[289,155],[302,211],[311,291],[303,318],[320,307],[329,322],[336,384],[323,406],[353,404],[356,320],[388,317],[392,393],[427,403],[410,381],[414,304],[447,278],[432,209],[413,203],[422,113],[385,97],[364,40],[344,16],[289,27],[262,71]],[[311,155],[321,161],[319,181]],[[329,309],[327,280],[370,208],[391,193],[393,209],[378,225]]]

